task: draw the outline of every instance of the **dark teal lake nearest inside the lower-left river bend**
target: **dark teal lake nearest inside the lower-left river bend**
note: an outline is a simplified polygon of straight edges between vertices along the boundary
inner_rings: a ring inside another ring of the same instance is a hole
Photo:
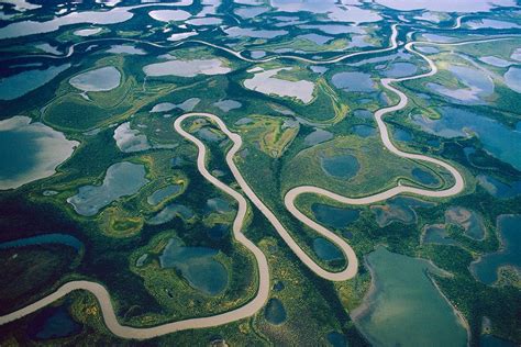
[[[208,247],[186,247],[171,238],[159,256],[162,268],[176,268],[191,287],[209,295],[220,294],[228,286],[226,268],[214,256],[219,250]]]

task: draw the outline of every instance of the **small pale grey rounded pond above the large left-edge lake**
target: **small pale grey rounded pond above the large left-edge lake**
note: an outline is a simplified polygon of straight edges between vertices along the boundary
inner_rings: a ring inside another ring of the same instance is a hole
[[[113,66],[106,66],[77,75],[69,83],[82,91],[108,91],[120,86],[121,74]]]

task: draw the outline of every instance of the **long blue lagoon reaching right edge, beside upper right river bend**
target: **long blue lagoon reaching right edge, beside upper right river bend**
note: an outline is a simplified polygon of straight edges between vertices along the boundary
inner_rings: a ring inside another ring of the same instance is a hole
[[[413,122],[423,131],[446,137],[468,137],[467,130],[475,133],[485,149],[496,158],[521,170],[519,146],[521,132],[516,132],[487,116],[456,108],[442,108],[442,117],[436,121],[421,115],[413,116]]]

